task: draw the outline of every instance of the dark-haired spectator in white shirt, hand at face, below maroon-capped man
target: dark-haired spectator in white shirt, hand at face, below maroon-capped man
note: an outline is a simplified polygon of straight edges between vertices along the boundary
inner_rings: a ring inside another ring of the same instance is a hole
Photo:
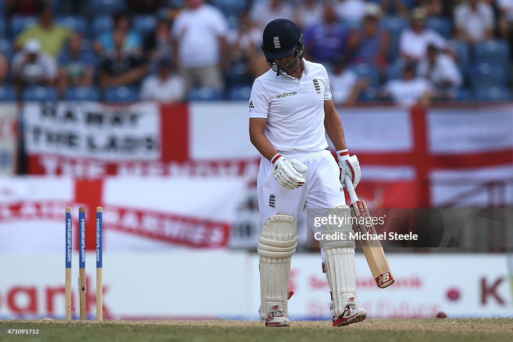
[[[447,90],[461,86],[463,79],[454,59],[429,45],[427,58],[419,63],[418,75],[429,79],[439,89]]]

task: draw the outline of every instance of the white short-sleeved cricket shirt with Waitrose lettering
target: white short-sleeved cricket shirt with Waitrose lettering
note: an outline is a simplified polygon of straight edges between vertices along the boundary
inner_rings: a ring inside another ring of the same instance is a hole
[[[303,59],[300,79],[269,70],[255,79],[249,117],[267,118],[265,136],[283,153],[321,151],[328,147],[324,101],[331,99],[326,68]]]

